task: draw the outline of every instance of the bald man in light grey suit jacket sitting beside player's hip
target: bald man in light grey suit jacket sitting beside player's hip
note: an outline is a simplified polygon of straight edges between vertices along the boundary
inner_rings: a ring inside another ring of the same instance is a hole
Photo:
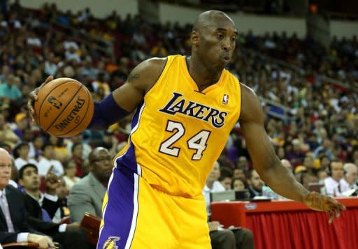
[[[72,186],[68,205],[73,221],[80,221],[85,212],[101,217],[101,209],[113,166],[107,149],[97,147],[89,156],[90,174]]]

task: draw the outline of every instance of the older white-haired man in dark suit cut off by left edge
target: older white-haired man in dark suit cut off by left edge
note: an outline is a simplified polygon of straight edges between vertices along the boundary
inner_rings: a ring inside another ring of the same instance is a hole
[[[29,226],[22,193],[8,185],[11,166],[10,154],[0,148],[0,243],[34,242],[40,248],[55,248],[52,239]]]

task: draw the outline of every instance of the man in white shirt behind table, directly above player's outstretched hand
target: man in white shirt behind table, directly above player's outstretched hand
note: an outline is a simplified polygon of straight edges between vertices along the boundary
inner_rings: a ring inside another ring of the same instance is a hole
[[[343,172],[343,163],[341,162],[331,162],[327,167],[329,177],[324,179],[324,188],[326,188],[327,195],[343,196],[343,192],[350,190],[348,183],[343,179]]]

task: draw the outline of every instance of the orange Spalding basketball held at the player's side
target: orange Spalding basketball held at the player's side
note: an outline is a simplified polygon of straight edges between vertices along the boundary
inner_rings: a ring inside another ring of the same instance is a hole
[[[35,119],[47,133],[57,137],[71,137],[90,124],[94,103],[90,91],[70,78],[58,78],[38,91]]]

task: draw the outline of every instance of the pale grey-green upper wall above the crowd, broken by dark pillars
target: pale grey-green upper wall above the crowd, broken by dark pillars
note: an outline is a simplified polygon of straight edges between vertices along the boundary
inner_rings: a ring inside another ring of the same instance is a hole
[[[117,10],[117,13],[121,16],[127,14],[136,15],[139,12],[138,1],[140,0],[22,0],[20,3],[29,8],[39,8],[43,3],[56,3],[60,10],[72,10],[74,13],[90,7],[96,17],[106,17],[113,10]],[[203,11],[200,8],[185,8],[169,3],[159,3],[158,8],[159,11],[157,13],[159,17],[157,19],[162,23],[192,23],[195,17]],[[238,31],[243,33],[247,33],[250,29],[255,34],[271,33],[273,31],[282,33],[282,31],[286,31],[289,36],[292,33],[297,33],[299,38],[304,38],[307,33],[306,20],[303,17],[269,17],[239,13],[231,13],[229,15],[236,23]],[[331,37],[337,36],[341,38],[345,36],[351,38],[353,35],[358,35],[358,22],[332,20],[330,22],[329,33]]]

